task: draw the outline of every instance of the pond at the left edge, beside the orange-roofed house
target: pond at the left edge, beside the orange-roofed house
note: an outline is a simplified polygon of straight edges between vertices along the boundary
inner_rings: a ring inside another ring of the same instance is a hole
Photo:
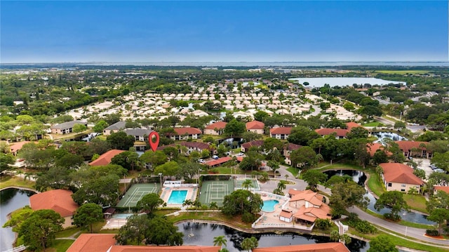
[[[6,251],[13,248],[15,233],[11,227],[3,227],[8,220],[8,214],[18,208],[29,205],[29,197],[35,192],[18,189],[5,189],[0,191],[0,248]]]

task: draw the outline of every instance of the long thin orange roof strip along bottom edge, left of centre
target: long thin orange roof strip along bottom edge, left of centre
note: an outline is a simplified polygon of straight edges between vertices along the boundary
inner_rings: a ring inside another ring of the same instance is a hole
[[[108,252],[218,252],[219,246],[112,246]]]

